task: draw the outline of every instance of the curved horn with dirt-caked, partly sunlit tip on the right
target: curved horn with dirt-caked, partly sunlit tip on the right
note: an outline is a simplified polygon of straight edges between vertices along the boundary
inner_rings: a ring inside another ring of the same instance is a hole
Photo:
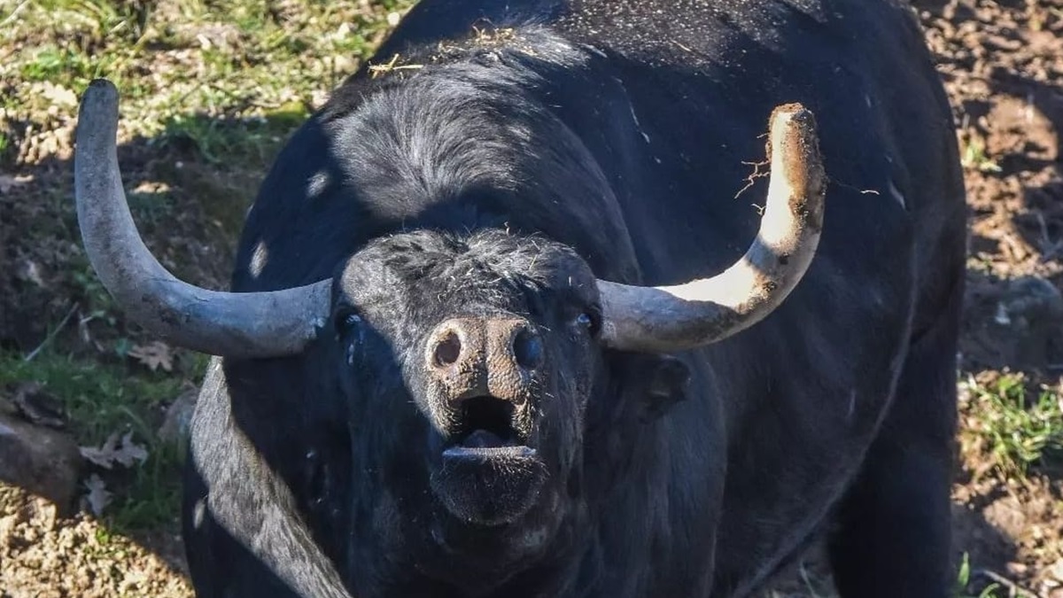
[[[776,107],[767,153],[767,203],[745,255],[720,275],[676,286],[600,280],[606,345],[634,351],[693,349],[753,326],[790,295],[823,230],[827,179],[812,113],[800,104]]]

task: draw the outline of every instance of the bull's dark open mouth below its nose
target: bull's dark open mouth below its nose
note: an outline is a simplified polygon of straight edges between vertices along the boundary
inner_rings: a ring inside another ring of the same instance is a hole
[[[457,408],[458,425],[450,435],[446,453],[509,452],[499,449],[525,447],[527,434],[518,431],[516,406],[495,397],[473,397]]]

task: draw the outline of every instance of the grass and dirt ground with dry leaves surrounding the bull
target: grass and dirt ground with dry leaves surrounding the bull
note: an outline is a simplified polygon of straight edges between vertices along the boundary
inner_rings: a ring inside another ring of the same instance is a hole
[[[173,431],[204,361],[125,321],[88,267],[70,200],[80,92],[98,74],[122,92],[149,247],[223,287],[280,143],[404,4],[0,0],[0,417],[94,449],[56,491],[73,509],[0,484],[0,598],[190,596]],[[919,4],[969,194],[956,595],[1059,598],[1063,1]],[[832,596],[822,559],[766,596]]]

